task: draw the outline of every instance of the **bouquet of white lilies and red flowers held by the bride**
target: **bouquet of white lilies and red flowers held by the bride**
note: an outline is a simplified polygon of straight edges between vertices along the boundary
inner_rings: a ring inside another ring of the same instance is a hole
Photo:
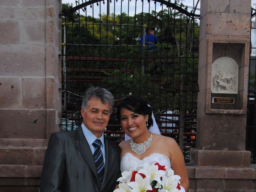
[[[179,192],[180,176],[159,163],[144,163],[136,170],[122,172],[114,192]]]

